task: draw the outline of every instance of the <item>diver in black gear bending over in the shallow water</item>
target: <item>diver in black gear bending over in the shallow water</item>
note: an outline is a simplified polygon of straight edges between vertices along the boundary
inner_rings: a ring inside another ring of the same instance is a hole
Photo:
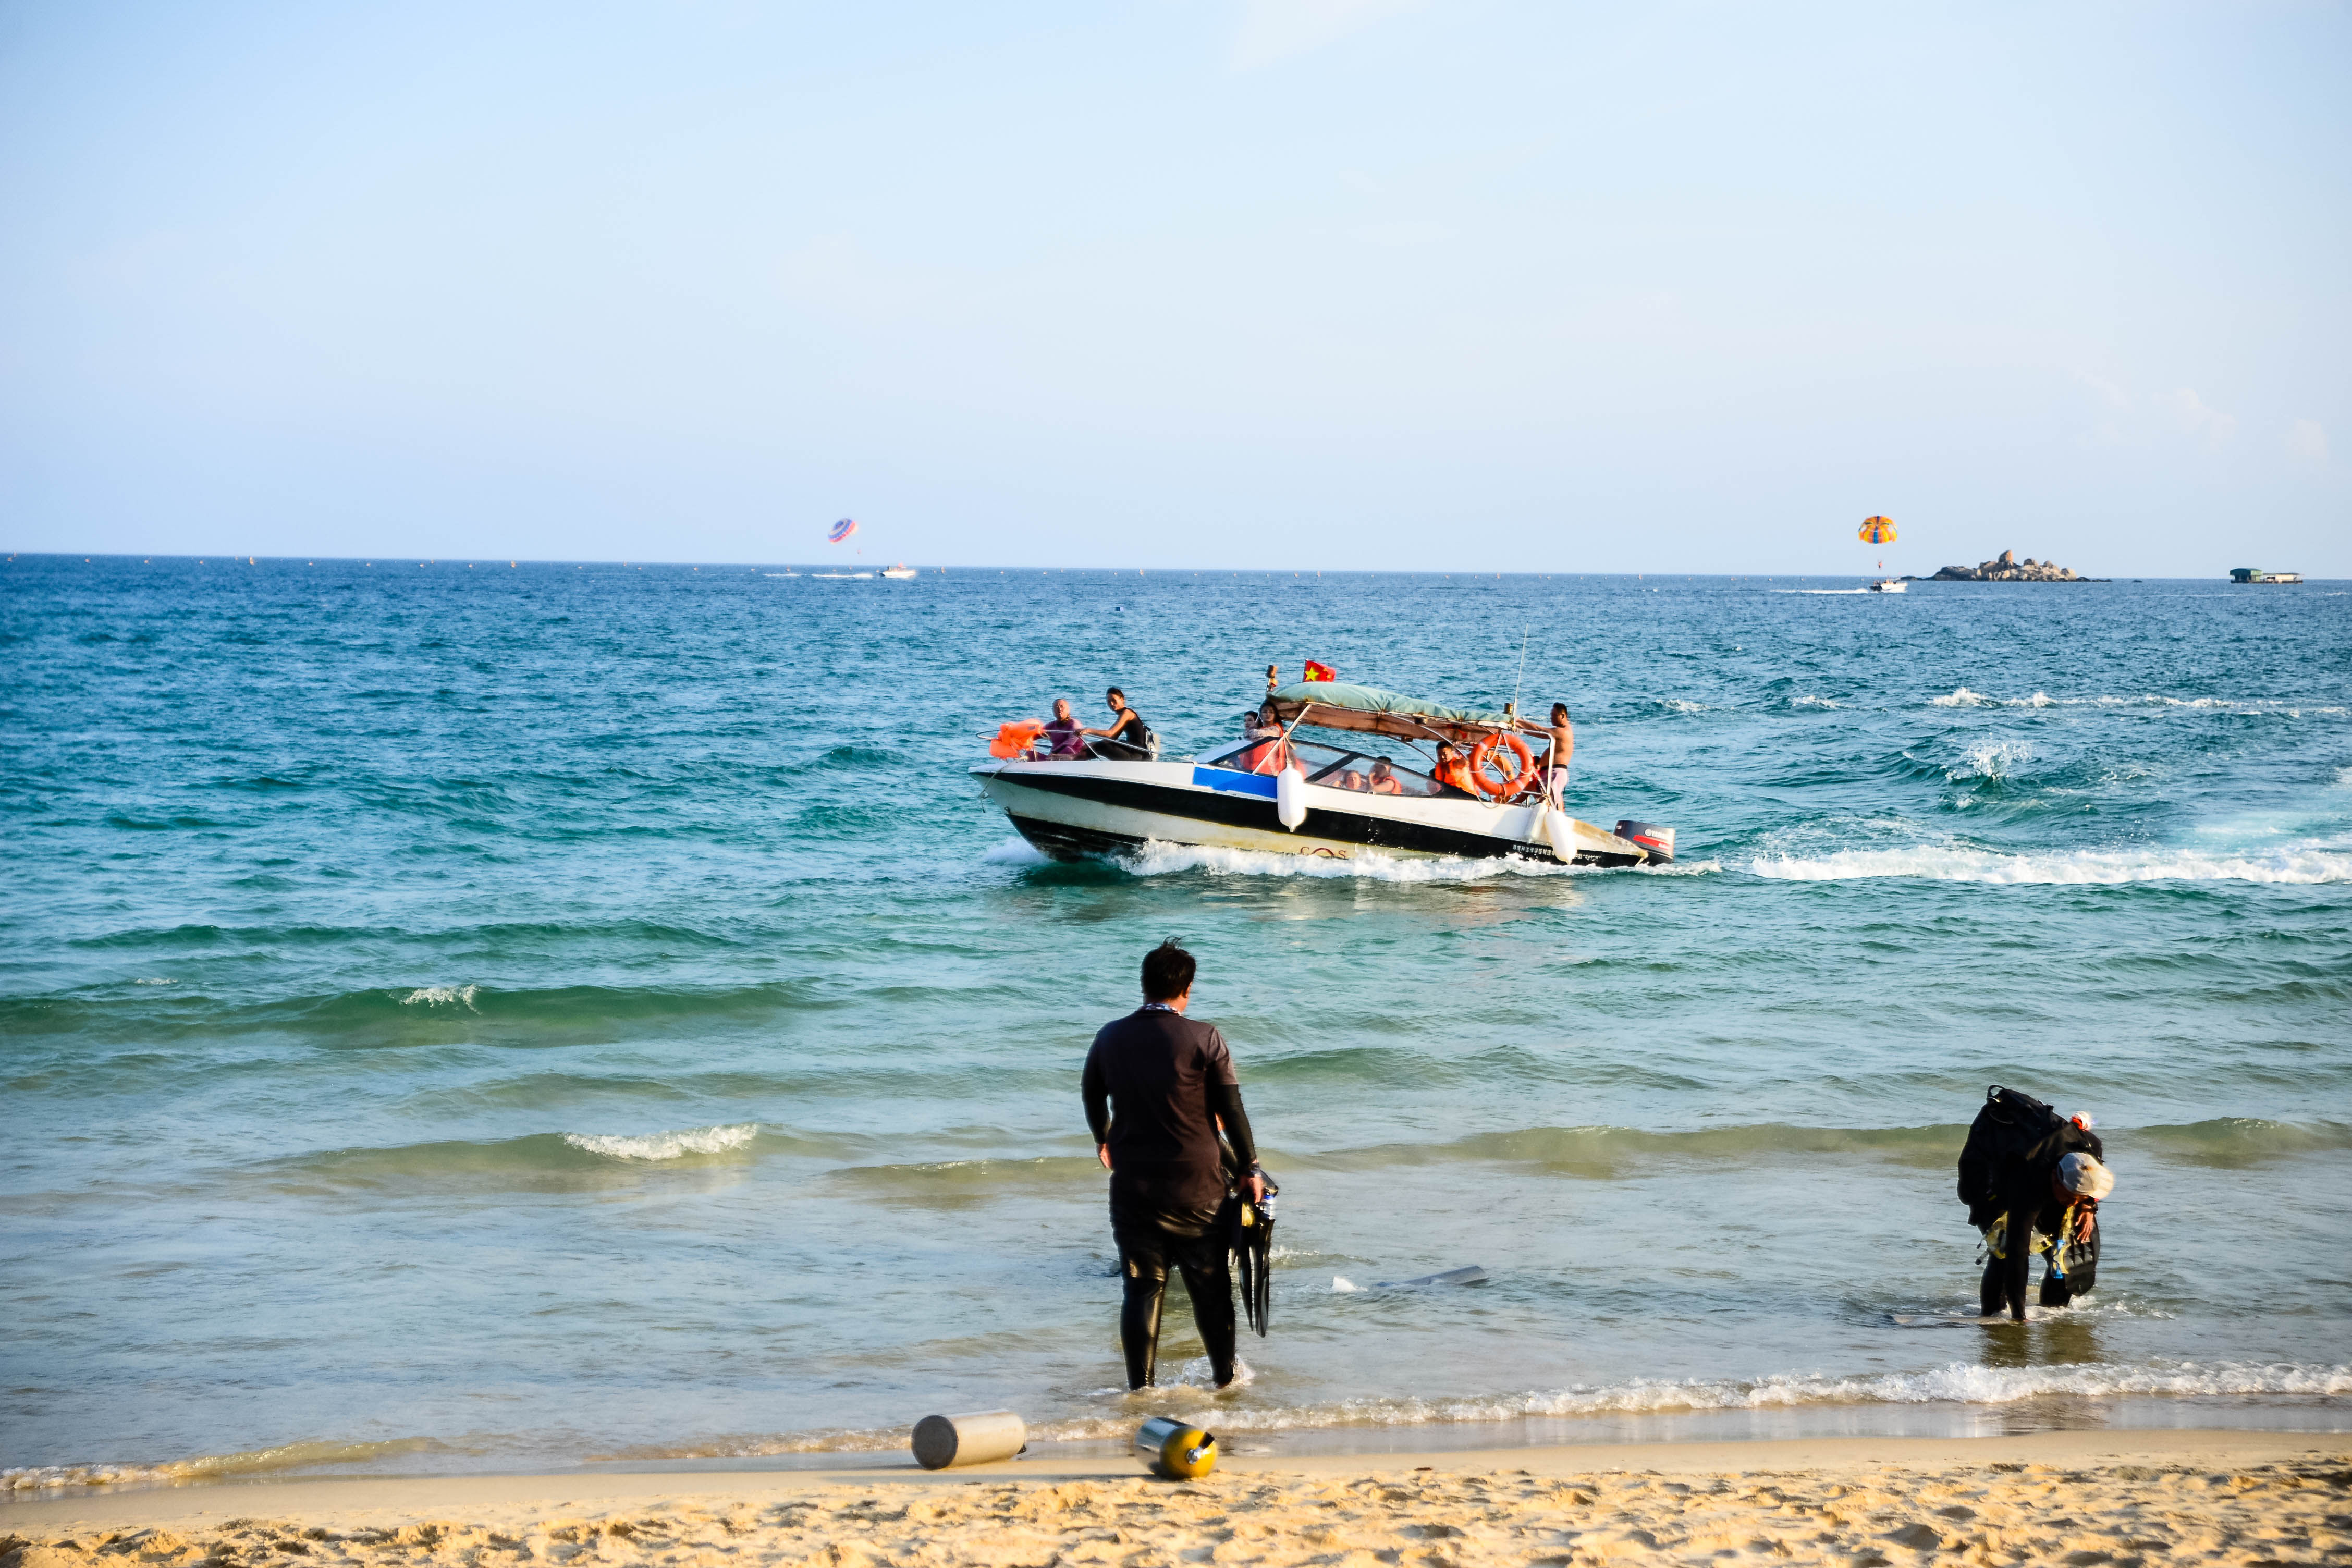
[[[2063,1307],[2098,1281],[2098,1199],[2114,1190],[2105,1154],[2089,1117],[2060,1117],[1999,1084],[1985,1091],[1959,1150],[1959,1201],[1969,1206],[1969,1225],[1985,1234],[1978,1288],[1985,1316],[2006,1305],[2013,1321],[2025,1321],[2034,1253],[2049,1253],[2044,1307]]]

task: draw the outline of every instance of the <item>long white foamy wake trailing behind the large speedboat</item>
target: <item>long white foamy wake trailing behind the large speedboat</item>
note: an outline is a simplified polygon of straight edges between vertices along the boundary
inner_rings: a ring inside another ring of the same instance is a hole
[[[1919,882],[2079,884],[2122,886],[2131,882],[2352,882],[2352,853],[2336,849],[2070,849],[2002,853],[1959,844],[1912,849],[1839,849],[1828,856],[1757,856],[1757,877],[1776,882],[1858,882],[1910,877]]]

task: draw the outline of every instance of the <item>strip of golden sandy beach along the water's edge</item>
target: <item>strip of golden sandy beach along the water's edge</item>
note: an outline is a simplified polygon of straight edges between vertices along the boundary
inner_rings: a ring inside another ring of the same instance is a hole
[[[2352,1559],[2352,1441],[2044,1432],[1240,1458],[1195,1483],[1103,1458],[275,1481],[12,1505],[0,1547],[0,1568],[2317,1563]]]

